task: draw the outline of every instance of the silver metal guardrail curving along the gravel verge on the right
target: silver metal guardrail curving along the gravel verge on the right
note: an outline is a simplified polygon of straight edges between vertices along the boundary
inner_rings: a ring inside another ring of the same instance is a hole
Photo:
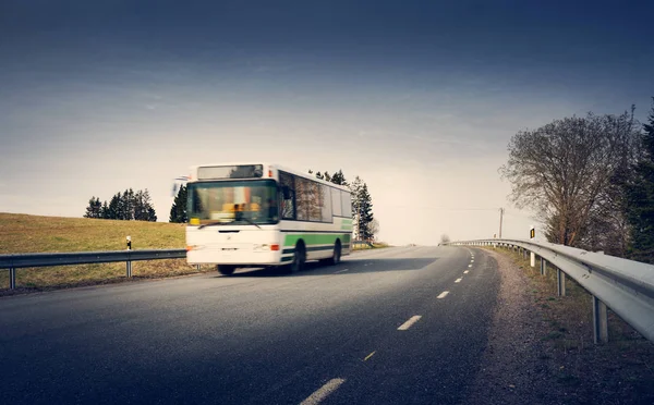
[[[654,342],[654,266],[547,242],[524,240],[480,240],[449,245],[495,246],[540,257],[541,273],[547,263],[557,271],[558,294],[566,295],[566,274],[593,296],[595,343],[608,341],[606,307]]]

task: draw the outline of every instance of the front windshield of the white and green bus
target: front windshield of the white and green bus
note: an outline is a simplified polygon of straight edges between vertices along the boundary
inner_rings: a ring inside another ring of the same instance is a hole
[[[279,222],[274,180],[189,183],[189,224],[258,225]]]

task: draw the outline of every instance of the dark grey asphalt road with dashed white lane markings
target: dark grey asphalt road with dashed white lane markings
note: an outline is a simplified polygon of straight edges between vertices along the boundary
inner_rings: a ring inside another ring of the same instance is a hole
[[[483,250],[308,267],[0,298],[0,403],[465,403],[499,287]]]

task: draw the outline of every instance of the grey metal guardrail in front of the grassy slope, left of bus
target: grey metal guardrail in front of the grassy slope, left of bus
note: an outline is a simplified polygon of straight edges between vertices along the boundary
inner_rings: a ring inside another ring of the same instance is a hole
[[[43,253],[0,255],[0,269],[9,269],[9,287],[16,287],[16,269],[26,267],[51,267],[70,265],[108,263],[124,261],[126,277],[132,277],[132,261],[181,259],[185,249],[110,250],[78,253]]]

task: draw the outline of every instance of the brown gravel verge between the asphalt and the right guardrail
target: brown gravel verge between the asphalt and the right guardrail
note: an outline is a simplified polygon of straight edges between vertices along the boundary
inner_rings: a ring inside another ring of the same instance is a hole
[[[464,403],[654,404],[651,342],[611,315],[610,342],[594,345],[585,293],[557,297],[518,255],[485,251],[497,262],[500,291]]]

